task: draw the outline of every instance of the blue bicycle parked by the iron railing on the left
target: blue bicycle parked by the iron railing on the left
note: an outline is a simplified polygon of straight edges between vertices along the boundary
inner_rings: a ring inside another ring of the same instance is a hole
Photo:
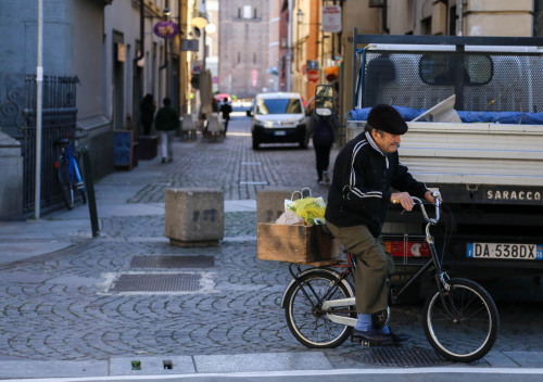
[[[61,148],[61,154],[54,162],[54,168],[56,170],[56,179],[62,188],[62,198],[64,199],[64,203],[68,209],[72,209],[75,204],[74,190],[79,190],[83,203],[87,203],[85,182],[81,178],[79,166],[77,165],[77,162],[79,161],[79,152],[72,149],[70,136],[67,138],[55,140],[53,145]]]

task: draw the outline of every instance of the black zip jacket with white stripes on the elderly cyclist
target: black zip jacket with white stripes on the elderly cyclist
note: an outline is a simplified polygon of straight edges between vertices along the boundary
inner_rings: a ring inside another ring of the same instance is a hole
[[[420,199],[428,191],[400,163],[397,152],[384,154],[369,132],[362,132],[336,158],[325,219],[338,227],[367,226],[377,238],[391,187]]]

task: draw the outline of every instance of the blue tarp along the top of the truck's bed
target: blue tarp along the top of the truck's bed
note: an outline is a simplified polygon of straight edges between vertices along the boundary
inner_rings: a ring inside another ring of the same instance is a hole
[[[405,120],[409,122],[426,110],[394,106]],[[366,120],[371,107],[354,109],[346,113],[349,120]],[[513,125],[543,125],[543,113],[520,112],[457,112],[462,122],[468,124],[513,124]]]

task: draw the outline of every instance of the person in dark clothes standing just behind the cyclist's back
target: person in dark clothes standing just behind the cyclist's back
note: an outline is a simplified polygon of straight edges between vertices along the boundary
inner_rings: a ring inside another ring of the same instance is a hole
[[[330,151],[336,136],[337,117],[332,115],[317,115],[312,111],[310,131],[313,135],[313,149],[317,166],[319,184],[330,184],[328,166],[330,165]]]

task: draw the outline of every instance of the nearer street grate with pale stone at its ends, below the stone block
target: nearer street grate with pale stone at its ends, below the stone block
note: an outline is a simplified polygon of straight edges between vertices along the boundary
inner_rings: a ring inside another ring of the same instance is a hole
[[[130,273],[121,275],[112,292],[195,292],[200,289],[199,273]]]

